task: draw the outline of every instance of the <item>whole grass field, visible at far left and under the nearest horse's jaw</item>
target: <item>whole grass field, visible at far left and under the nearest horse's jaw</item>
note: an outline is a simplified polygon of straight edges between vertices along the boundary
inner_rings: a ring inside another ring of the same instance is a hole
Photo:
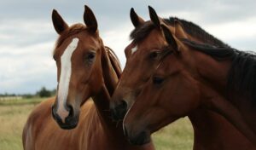
[[[21,132],[33,107],[44,99],[0,101],[0,150],[21,150]],[[157,150],[189,150],[193,130],[188,118],[179,119],[153,135]]]

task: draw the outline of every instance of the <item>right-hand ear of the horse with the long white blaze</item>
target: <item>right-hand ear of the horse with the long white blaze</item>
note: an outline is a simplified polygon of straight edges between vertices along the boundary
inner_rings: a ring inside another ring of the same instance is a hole
[[[98,28],[97,20],[92,10],[87,5],[84,5],[84,23],[91,32],[96,32]]]

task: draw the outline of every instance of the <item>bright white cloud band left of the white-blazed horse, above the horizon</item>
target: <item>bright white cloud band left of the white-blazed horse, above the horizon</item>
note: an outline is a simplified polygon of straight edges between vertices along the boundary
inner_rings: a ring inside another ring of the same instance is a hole
[[[0,52],[0,93],[31,93],[42,86],[53,89],[56,67],[52,47],[53,43],[38,43],[5,48],[11,53]]]

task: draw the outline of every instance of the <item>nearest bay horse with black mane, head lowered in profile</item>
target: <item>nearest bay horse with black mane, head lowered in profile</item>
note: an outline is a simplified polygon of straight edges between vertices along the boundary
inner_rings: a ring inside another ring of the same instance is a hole
[[[223,115],[255,149],[256,56],[230,47],[197,43],[179,37],[183,31],[173,33],[164,23],[159,25],[168,43],[162,50],[166,55],[126,113],[125,135],[135,144],[144,144],[151,133],[200,108]],[[232,136],[224,139],[234,139],[230,143],[234,146],[240,142]],[[234,146],[231,149],[247,149]]]

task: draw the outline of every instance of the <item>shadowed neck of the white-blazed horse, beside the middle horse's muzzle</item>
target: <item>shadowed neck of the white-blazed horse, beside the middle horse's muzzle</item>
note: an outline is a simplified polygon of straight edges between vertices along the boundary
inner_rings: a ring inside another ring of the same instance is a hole
[[[131,145],[124,136],[122,124],[113,122],[112,118],[110,118],[110,93],[113,93],[113,89],[115,89],[115,86],[118,82],[117,77],[119,77],[120,73],[116,73],[114,71],[108,55],[106,55],[106,53],[104,54],[104,52],[102,53],[102,55],[104,55],[102,56],[102,64],[104,64],[102,65],[102,71],[105,84],[102,84],[102,88],[100,89],[100,91],[95,96],[93,96],[93,101],[95,102],[96,106],[95,113],[97,113],[97,115],[95,115],[95,123],[97,123],[98,121],[101,122],[102,129],[106,134],[105,136],[108,135],[108,144],[113,145],[113,147],[119,147],[115,149],[154,150],[154,145],[152,142],[139,147]]]

